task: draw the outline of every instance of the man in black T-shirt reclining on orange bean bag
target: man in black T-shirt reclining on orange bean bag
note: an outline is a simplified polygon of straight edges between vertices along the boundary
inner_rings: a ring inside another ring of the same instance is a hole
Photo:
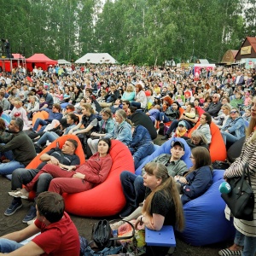
[[[67,139],[62,148],[51,148],[47,153],[41,155],[40,160],[43,162],[37,167],[37,169],[24,169],[19,168],[13,172],[12,177],[12,192],[9,195],[14,196],[9,208],[4,212],[5,216],[11,216],[22,207],[21,198],[27,199],[28,193],[26,189],[21,189],[22,184],[30,183],[37,175],[37,173],[46,165],[53,164],[55,166],[75,166],[80,164],[79,156],[74,154],[76,148],[78,147],[77,141],[73,139]],[[66,172],[66,171],[63,171]],[[36,197],[47,191],[49,188],[49,183],[52,180],[52,176],[48,173],[43,173],[38,179],[36,188]],[[32,205],[29,212],[27,212],[26,217],[23,218],[22,222],[27,223],[28,221],[35,218],[37,215],[37,210],[35,204]]]

